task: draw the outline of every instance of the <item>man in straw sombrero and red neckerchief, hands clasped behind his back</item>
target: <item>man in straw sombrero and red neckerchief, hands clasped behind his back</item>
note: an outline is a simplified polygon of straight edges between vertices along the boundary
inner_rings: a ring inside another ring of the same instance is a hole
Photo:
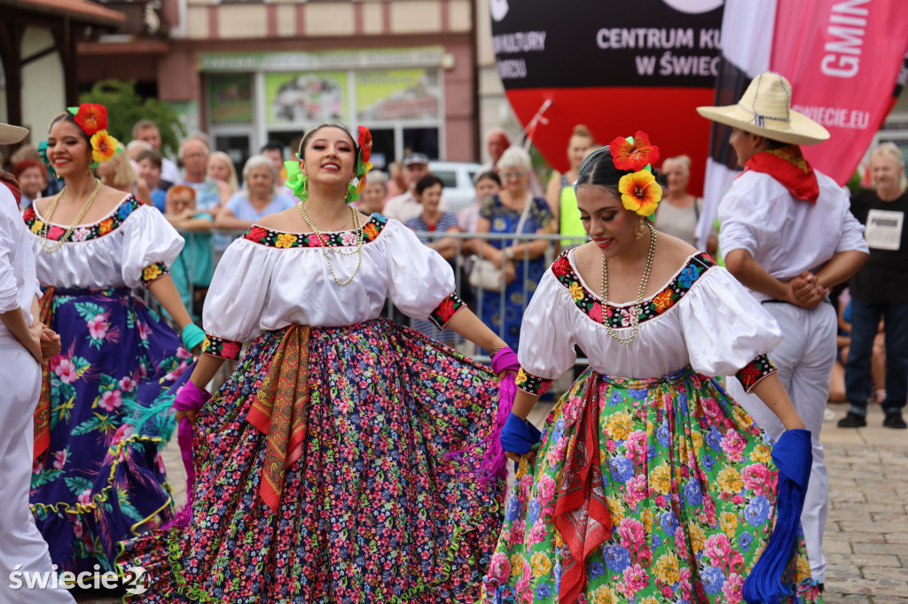
[[[785,340],[771,354],[813,441],[802,522],[814,581],[823,584],[823,531],[829,500],[820,428],[835,359],[836,314],[826,296],[868,256],[864,229],[834,180],[814,170],[798,145],[829,132],[791,110],[792,88],[778,73],[757,75],[735,105],[698,107],[732,127],[730,143],[744,169],[719,205],[725,266],[775,317]],[[773,438],[784,428],[735,380],[729,393]]]

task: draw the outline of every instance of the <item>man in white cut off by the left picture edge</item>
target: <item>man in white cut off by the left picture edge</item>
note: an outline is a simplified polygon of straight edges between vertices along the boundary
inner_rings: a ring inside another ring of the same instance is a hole
[[[0,123],[0,145],[22,141],[27,133]],[[0,175],[0,502],[6,506],[0,514],[0,602],[74,602],[56,580],[47,543],[28,508],[40,363],[59,354],[60,340],[38,321],[41,291],[19,195],[13,175]]]

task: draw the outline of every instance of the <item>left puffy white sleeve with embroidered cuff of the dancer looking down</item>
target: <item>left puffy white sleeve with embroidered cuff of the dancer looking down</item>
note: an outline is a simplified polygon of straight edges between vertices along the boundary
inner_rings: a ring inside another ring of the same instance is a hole
[[[518,388],[531,395],[543,395],[553,381],[574,365],[576,317],[573,298],[549,268],[539,281],[520,325]]]

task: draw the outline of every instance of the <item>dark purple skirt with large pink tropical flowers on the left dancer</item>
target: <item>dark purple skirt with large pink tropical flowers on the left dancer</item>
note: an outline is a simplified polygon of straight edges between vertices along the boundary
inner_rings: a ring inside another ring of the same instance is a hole
[[[50,440],[35,460],[31,508],[60,570],[111,570],[118,541],[173,513],[159,454],[173,420],[155,410],[173,402],[192,356],[129,289],[45,297],[61,354],[44,383],[49,423],[36,422]]]

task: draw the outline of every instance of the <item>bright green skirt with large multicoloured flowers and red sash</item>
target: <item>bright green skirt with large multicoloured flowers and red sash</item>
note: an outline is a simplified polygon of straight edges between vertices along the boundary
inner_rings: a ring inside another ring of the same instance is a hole
[[[645,380],[587,369],[549,414],[535,460],[521,463],[488,601],[743,601],[775,518],[772,446],[689,367]],[[564,513],[559,501],[572,498],[579,507]],[[819,599],[803,539],[785,580],[788,601]]]

